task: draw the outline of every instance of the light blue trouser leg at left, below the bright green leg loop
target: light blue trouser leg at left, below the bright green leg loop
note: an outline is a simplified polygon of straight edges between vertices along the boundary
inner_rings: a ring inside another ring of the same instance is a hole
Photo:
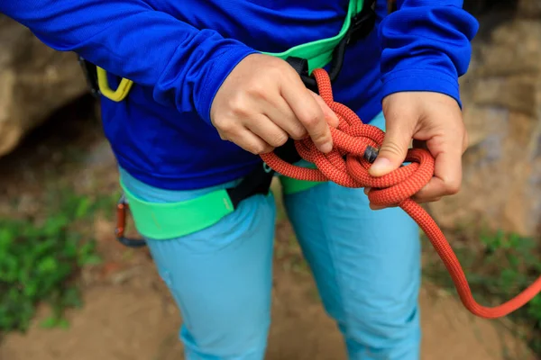
[[[253,196],[214,226],[148,240],[183,318],[188,359],[260,360],[270,325],[272,196]]]

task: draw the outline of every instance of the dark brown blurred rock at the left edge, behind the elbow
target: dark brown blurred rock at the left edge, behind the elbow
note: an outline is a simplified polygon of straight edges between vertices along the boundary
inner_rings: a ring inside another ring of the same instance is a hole
[[[77,57],[55,51],[0,14],[0,156],[87,91]]]

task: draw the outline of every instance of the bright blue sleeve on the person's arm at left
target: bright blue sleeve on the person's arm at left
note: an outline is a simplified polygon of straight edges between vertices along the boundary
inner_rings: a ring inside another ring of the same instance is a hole
[[[151,86],[158,103],[179,112],[195,108],[207,122],[225,77],[255,52],[143,0],[0,0],[0,13],[50,48],[74,51],[112,74]]]

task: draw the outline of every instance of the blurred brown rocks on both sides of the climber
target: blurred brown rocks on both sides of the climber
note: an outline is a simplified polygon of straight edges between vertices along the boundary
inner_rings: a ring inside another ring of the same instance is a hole
[[[461,79],[470,147],[463,189],[430,204],[438,223],[541,231],[541,0],[469,0],[481,31]],[[0,14],[0,157],[51,112],[87,93],[72,53]]]

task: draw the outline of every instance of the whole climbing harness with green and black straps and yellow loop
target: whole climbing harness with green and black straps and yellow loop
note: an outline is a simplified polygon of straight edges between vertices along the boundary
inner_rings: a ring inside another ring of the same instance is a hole
[[[289,65],[301,76],[304,84],[308,88],[316,90],[316,81],[310,76],[311,71],[316,67],[325,67],[330,64],[330,76],[332,80],[335,80],[342,68],[346,46],[366,37],[373,29],[376,17],[372,8],[373,4],[374,0],[350,1],[344,25],[341,31],[332,38],[300,44],[281,53],[267,54],[288,61]],[[115,99],[124,99],[129,88],[133,85],[123,79],[121,85],[124,84],[124,87],[119,86],[113,91],[104,82],[104,72],[99,67],[92,66],[82,58],[80,61],[84,65],[87,81],[93,88],[93,94],[101,94],[114,100],[109,94],[115,93]],[[280,157],[286,158],[289,163],[301,160],[293,139],[289,139],[284,146],[275,151],[280,154]],[[244,176],[239,184],[230,189],[207,193],[187,202],[166,204],[143,202],[130,193],[121,181],[124,194],[116,205],[116,238],[127,247],[145,245],[143,239],[125,237],[128,211],[132,213],[137,232],[145,238],[178,238],[205,229],[234,211],[242,200],[258,193],[268,194],[274,175],[274,170],[263,163],[262,166],[256,166],[251,174]],[[283,175],[279,176],[284,193],[297,193],[316,184],[321,184],[316,181],[299,181]]]

